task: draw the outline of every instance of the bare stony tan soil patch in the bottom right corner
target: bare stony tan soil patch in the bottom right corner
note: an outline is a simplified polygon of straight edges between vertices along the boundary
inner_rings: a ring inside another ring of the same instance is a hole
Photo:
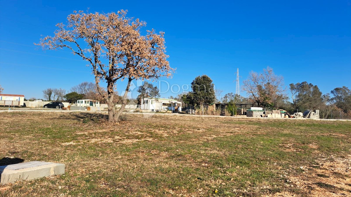
[[[307,196],[351,196],[351,155],[331,155],[316,161],[318,165],[300,166],[298,175],[286,176],[286,187],[295,188]],[[269,196],[294,196],[278,192]]]

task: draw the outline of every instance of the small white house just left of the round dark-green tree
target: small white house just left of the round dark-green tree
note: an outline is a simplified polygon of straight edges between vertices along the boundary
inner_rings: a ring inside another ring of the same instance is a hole
[[[145,97],[141,99],[140,109],[150,110],[151,112],[167,110],[181,112],[181,102],[174,99]]]

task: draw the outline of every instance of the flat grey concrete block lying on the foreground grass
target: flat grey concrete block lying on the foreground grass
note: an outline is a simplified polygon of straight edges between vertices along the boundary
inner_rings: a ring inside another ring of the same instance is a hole
[[[32,180],[64,173],[65,164],[62,163],[31,161],[11,164],[0,166],[0,184],[13,183],[18,180]]]

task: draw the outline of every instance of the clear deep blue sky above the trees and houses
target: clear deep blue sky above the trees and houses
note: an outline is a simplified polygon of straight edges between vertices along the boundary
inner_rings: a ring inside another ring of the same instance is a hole
[[[170,85],[186,87],[206,74],[225,94],[235,92],[237,68],[242,81],[250,71],[270,66],[284,76],[286,86],[307,81],[323,93],[351,88],[350,0],[0,2],[0,84],[8,94],[42,98],[47,87],[69,90],[93,82],[91,69],[78,56],[33,45],[40,35],[53,35],[55,24],[73,10],[88,8],[100,13],[127,9],[128,16],[147,22],[143,32],[164,31],[168,61],[177,68],[172,79],[161,79]],[[118,82],[118,91],[123,89],[125,83]],[[171,95],[176,93],[161,93]]]

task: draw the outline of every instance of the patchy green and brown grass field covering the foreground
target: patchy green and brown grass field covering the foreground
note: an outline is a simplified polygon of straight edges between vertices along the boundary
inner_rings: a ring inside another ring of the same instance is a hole
[[[0,196],[351,195],[351,122],[0,113],[0,159],[66,164]],[[4,159],[5,158],[5,159]]]

